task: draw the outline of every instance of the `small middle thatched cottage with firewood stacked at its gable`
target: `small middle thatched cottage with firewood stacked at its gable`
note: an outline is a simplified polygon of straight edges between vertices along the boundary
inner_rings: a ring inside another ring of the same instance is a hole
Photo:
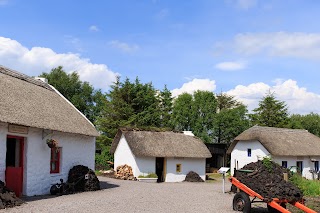
[[[119,129],[110,152],[115,168],[127,164],[135,177],[156,173],[161,182],[181,182],[190,171],[205,180],[206,158],[211,157],[205,144],[190,133],[133,129]]]

